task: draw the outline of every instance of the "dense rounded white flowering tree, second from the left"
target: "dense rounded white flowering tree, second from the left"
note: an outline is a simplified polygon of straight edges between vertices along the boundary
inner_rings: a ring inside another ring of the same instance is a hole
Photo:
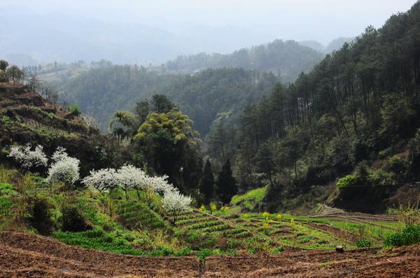
[[[58,147],[52,155],[54,161],[48,169],[47,181],[50,183],[60,182],[64,189],[69,189],[79,178],[80,161],[66,153],[66,149]]]

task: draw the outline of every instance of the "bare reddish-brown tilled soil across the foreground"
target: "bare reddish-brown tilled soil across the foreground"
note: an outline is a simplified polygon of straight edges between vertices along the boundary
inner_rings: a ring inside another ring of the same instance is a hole
[[[285,251],[281,255],[141,257],[0,233],[0,277],[420,277],[420,245],[393,250]]]

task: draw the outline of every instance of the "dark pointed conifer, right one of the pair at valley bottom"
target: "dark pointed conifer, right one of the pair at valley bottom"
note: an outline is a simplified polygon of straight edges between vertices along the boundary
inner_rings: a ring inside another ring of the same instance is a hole
[[[227,204],[237,191],[238,188],[235,182],[235,177],[232,176],[232,170],[230,169],[230,159],[228,159],[223,165],[221,172],[218,174],[216,193],[221,201]]]

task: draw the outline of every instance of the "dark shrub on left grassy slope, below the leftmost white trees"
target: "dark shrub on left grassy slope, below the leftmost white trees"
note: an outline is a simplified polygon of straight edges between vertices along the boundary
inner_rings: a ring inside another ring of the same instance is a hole
[[[54,224],[51,220],[52,205],[45,198],[31,197],[29,199],[29,217],[27,221],[36,228],[41,235],[48,235],[52,232]]]

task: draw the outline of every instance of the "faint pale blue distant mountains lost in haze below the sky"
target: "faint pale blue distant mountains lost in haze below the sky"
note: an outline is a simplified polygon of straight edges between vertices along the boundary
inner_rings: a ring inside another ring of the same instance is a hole
[[[98,20],[64,12],[36,13],[16,6],[1,7],[0,24],[7,26],[0,34],[0,57],[18,66],[100,59],[115,64],[162,64],[180,55],[226,54],[275,39],[287,40],[264,29],[191,24],[175,32],[148,24]],[[346,41],[338,40],[339,43],[326,47],[316,41],[301,44],[331,52]]]

